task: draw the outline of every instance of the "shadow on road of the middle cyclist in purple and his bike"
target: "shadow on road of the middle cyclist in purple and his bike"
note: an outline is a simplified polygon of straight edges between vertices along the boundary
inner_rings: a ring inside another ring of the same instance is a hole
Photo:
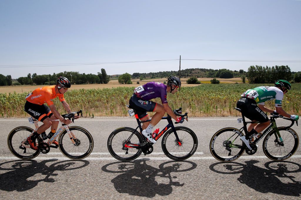
[[[172,186],[182,187],[185,183],[173,181],[176,176],[172,172],[186,172],[197,167],[191,161],[168,161],[161,163],[159,169],[150,166],[146,161],[149,158],[136,159],[132,162],[115,162],[104,165],[104,172],[122,173],[111,180],[119,193],[128,193],[134,196],[154,197],[156,194],[167,196],[172,193]],[[175,174],[176,175],[176,174]],[[156,177],[164,178],[164,183],[158,183]],[[180,178],[181,181],[183,179]]]

